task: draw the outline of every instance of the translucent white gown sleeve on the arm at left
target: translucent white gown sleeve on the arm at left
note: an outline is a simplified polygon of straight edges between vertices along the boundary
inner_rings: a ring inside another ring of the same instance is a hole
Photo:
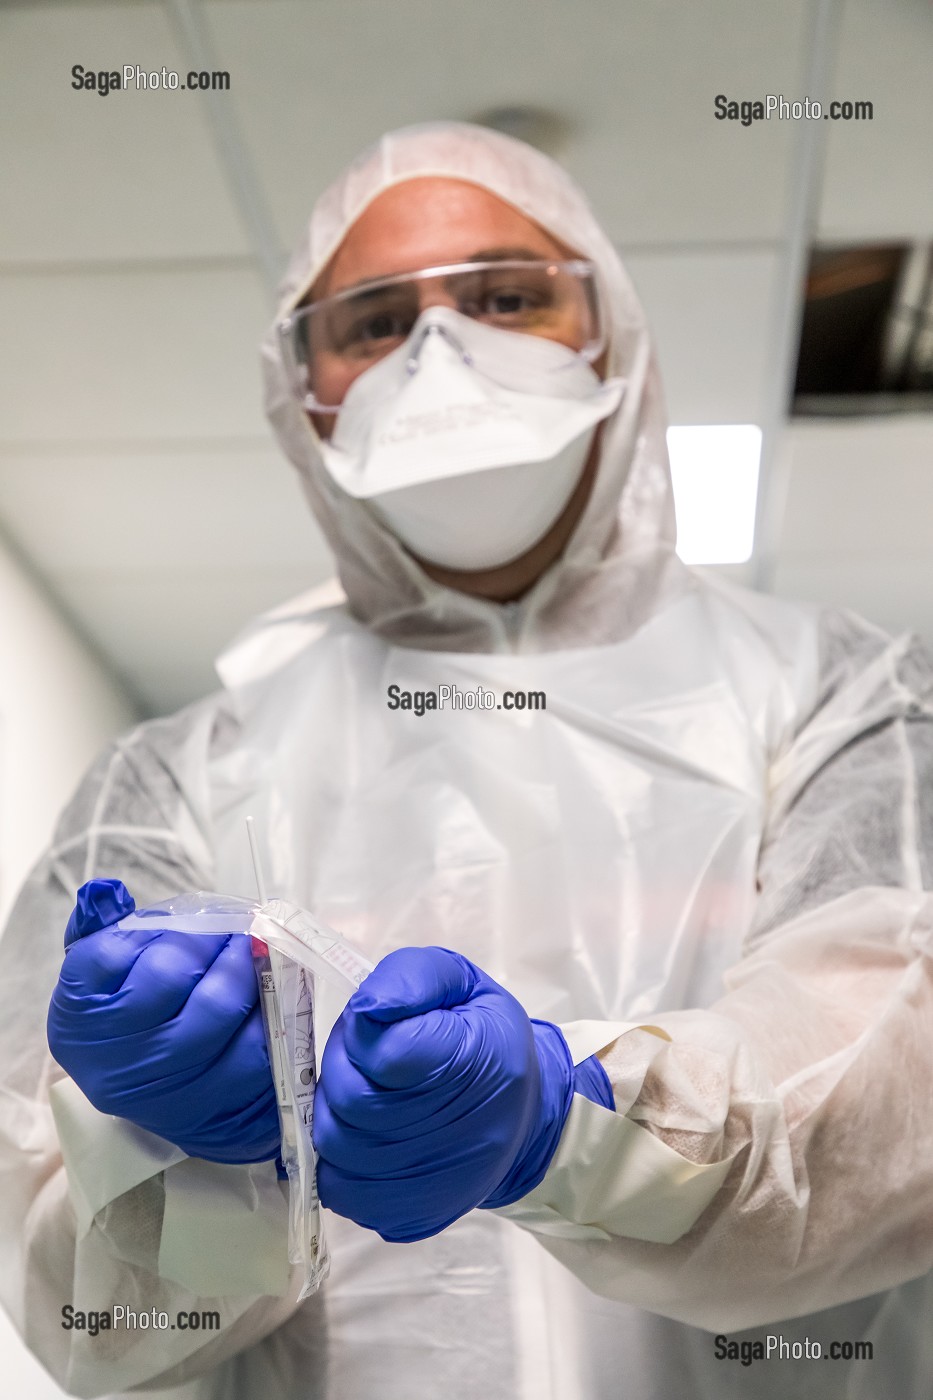
[[[269,1334],[296,1310],[287,1266],[275,1281],[280,1287],[269,1287],[269,1268],[251,1275],[251,1257],[270,1256],[269,1232],[277,1257],[286,1257],[287,1208],[275,1168],[188,1159],[160,1138],[97,1113],[52,1060],[45,1033],[64,924],[85,879],[120,878],[140,906],[212,888],[207,804],[179,777],[203,771],[198,756],[212,736],[216,715],[206,704],[146,725],[104,753],[27,881],[0,941],[0,1288],[27,1345],[70,1394],[182,1382]],[[179,753],[193,762],[178,763]],[[90,1200],[85,1219],[76,1219],[50,1096],[60,1099],[59,1114],[77,1120],[71,1151]],[[129,1177],[125,1166],[113,1165],[126,1161]],[[123,1189],[127,1180],[132,1186]],[[172,1212],[177,1238],[185,1228],[198,1232],[186,1257],[177,1243],[167,1252]],[[198,1259],[206,1266],[200,1277],[192,1273]],[[223,1277],[224,1264],[228,1284],[214,1288],[210,1278]],[[168,1327],[115,1327],[92,1336],[62,1326],[66,1306],[90,1313],[116,1305],[164,1312]],[[192,1310],[199,1319],[202,1312],[217,1313],[219,1329],[213,1320],[212,1330],[172,1326],[179,1312]]]

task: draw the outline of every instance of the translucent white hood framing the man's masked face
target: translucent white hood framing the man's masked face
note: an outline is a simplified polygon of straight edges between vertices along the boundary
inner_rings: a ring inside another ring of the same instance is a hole
[[[270,328],[262,344],[266,413],[333,549],[350,610],[380,636],[429,650],[542,651],[622,640],[684,585],[664,409],[642,307],[559,165],[523,141],[458,122],[388,133],[318,200],[276,319],[301,301],[364,209],[391,185],[419,176],[481,185],[595,263],[609,322],[607,372],[623,377],[626,391],[604,426],[597,480],[563,554],[518,603],[503,606],[433,582],[388,529],[339,491]]]

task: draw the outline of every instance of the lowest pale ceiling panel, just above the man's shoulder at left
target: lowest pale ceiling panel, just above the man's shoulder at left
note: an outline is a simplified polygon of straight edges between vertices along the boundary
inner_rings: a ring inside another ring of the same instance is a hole
[[[217,687],[213,661],[258,613],[319,582],[301,567],[81,571],[64,601],[153,711]]]

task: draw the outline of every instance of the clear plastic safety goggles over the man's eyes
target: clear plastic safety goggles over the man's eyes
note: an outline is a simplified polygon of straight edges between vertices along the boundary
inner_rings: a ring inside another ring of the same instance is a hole
[[[607,343],[591,262],[510,258],[426,267],[338,291],[279,322],[298,399],[318,413],[336,413],[353,379],[398,350],[429,307],[556,340],[590,363]]]

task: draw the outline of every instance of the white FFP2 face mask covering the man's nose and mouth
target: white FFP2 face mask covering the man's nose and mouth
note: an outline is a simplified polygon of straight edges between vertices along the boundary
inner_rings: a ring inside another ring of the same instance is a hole
[[[558,519],[623,388],[567,346],[431,307],[353,381],[324,461],[419,559],[495,568]]]

